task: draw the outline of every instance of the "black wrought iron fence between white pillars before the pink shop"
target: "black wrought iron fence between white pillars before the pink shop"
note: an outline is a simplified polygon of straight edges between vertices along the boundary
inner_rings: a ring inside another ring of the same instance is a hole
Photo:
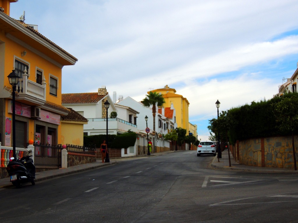
[[[34,145],[35,166],[57,166],[61,167],[62,145]]]

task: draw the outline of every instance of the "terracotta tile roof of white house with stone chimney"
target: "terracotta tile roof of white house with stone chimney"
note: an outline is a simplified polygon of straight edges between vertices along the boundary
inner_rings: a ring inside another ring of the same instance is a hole
[[[98,95],[97,92],[62,94],[62,104],[97,103],[105,96],[106,95]]]

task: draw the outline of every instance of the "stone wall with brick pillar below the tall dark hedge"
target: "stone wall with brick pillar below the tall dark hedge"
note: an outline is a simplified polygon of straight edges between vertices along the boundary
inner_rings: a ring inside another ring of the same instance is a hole
[[[294,136],[294,145],[298,161],[298,136]],[[243,140],[237,142],[235,148],[233,151],[239,151],[238,156],[235,154],[239,164],[255,167],[294,168],[292,136]]]

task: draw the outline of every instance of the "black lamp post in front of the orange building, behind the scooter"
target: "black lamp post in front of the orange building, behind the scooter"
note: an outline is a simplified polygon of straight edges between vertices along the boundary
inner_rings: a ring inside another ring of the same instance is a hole
[[[13,87],[13,158],[16,159],[15,155],[15,91],[20,78],[15,71],[11,72],[8,76],[9,83]]]

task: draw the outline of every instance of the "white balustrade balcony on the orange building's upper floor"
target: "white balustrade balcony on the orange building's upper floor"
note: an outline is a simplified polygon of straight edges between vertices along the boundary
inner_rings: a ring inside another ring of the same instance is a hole
[[[28,80],[28,75],[24,74],[23,78],[19,79],[17,86],[18,96],[17,101],[31,102],[34,105],[44,105],[46,102],[46,83],[43,80],[42,85]]]

